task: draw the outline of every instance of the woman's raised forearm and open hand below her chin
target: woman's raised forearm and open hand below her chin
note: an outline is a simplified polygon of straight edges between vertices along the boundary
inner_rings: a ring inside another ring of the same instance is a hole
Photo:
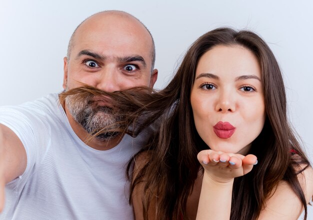
[[[204,173],[196,220],[229,220],[233,180],[250,172],[256,157],[204,150],[197,159]]]

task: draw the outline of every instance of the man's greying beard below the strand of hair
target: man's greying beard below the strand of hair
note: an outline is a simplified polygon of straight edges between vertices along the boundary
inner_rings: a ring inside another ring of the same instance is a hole
[[[96,134],[102,128],[116,129],[117,122],[122,120],[120,115],[114,115],[112,108],[97,106],[92,95],[80,98],[79,94],[65,98],[65,105],[73,119],[90,135]],[[115,126],[114,126],[115,125]],[[95,138],[99,141],[114,139],[120,132],[101,132]]]

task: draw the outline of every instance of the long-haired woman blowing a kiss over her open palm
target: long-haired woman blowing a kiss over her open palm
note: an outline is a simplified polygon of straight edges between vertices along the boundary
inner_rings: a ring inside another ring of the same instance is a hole
[[[303,209],[306,219],[312,169],[287,122],[276,59],[256,34],[209,31],[165,89],[109,96],[131,106],[135,133],[161,120],[128,166],[136,220],[296,220]]]

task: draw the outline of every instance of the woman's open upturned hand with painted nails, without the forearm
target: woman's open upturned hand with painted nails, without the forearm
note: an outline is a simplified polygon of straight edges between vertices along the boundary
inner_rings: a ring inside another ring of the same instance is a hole
[[[197,159],[207,175],[216,183],[232,182],[233,178],[249,173],[253,165],[257,164],[256,157],[252,154],[223,153],[212,150],[200,151]]]

